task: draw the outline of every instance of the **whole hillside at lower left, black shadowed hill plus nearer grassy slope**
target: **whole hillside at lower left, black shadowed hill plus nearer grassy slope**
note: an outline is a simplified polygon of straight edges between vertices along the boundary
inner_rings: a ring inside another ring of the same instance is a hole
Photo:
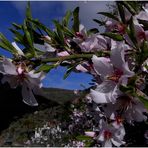
[[[37,91],[39,106],[30,107],[22,102],[20,90],[10,89],[8,84],[0,85],[0,146],[17,146],[18,142],[25,141],[28,132],[54,120],[56,113],[61,114],[61,118],[65,112],[64,103],[78,97],[72,90],[43,88]]]

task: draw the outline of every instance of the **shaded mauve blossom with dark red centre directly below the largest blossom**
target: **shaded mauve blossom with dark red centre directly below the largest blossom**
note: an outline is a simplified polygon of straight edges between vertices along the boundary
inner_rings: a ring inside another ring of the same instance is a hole
[[[103,107],[103,110],[105,115],[110,119],[113,119],[113,114],[116,113],[117,117],[125,119],[130,124],[133,124],[134,121],[142,122],[147,119],[143,114],[147,112],[143,103],[141,103],[138,98],[129,97],[127,95],[120,96],[115,104],[108,103]]]

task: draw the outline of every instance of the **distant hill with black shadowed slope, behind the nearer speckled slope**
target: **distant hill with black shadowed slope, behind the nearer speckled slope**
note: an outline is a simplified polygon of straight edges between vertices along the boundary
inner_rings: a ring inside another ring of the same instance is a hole
[[[72,90],[59,88],[43,88],[38,90],[37,94],[36,99],[39,106],[31,107],[22,102],[21,88],[11,89],[9,84],[0,83],[0,132],[26,113],[50,108],[76,98]]]

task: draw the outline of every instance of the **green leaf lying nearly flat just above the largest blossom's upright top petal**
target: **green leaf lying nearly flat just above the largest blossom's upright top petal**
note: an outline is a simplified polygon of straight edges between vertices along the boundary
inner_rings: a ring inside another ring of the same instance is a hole
[[[110,37],[116,41],[123,41],[123,36],[117,33],[112,33],[112,32],[106,32],[106,33],[102,33],[102,35]]]

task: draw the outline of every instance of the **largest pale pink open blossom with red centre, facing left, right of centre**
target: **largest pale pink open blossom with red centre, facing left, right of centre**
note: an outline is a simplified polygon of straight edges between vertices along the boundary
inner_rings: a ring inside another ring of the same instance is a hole
[[[124,43],[112,43],[111,57],[92,57],[92,62],[96,73],[100,75],[102,83],[97,85],[96,90],[91,90],[91,96],[96,103],[115,102],[121,94],[119,85],[126,85],[128,78],[134,75],[130,71],[128,63],[125,61]]]

